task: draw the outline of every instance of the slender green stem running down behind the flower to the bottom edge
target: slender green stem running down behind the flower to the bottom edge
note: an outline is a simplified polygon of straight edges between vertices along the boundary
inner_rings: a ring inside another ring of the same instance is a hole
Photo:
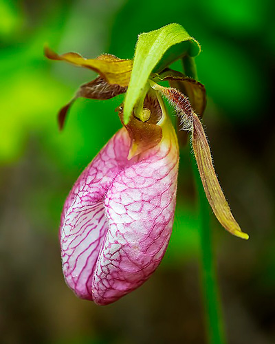
[[[184,72],[187,76],[197,80],[197,68],[194,58],[186,56],[182,59]],[[210,228],[210,206],[201,183],[195,157],[192,156],[192,169],[195,174],[195,184],[199,197],[199,226],[201,247],[201,288],[204,300],[204,310],[209,344],[225,344],[223,314],[219,297],[214,255],[212,250],[212,236]]]

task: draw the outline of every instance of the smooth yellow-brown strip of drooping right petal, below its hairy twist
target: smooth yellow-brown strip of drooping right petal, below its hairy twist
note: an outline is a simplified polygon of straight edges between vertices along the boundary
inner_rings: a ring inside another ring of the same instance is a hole
[[[193,114],[192,146],[201,175],[201,181],[208,202],[219,220],[220,224],[236,237],[248,239],[248,234],[243,233],[239,224],[234,219],[228,202],[225,200],[217,175],[212,164],[210,147],[203,131],[201,122],[196,114]]]

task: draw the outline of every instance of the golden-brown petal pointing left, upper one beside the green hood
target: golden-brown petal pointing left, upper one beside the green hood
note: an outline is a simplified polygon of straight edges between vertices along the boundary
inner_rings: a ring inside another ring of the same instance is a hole
[[[66,61],[73,65],[92,69],[110,84],[117,84],[122,87],[129,85],[133,66],[132,60],[121,60],[109,54],[100,55],[94,59],[84,58],[76,52],[58,55],[49,47],[45,47],[44,53],[51,60]]]

